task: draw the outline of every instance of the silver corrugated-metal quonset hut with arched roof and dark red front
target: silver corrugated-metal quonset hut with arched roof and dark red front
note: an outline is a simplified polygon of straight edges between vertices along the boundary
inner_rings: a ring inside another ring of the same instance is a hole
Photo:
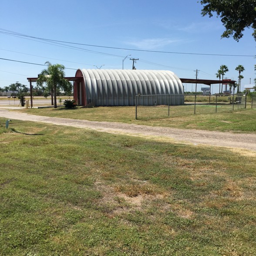
[[[80,106],[133,106],[136,95],[156,94],[170,94],[158,104],[184,104],[182,82],[172,71],[78,69],[75,78],[74,100]]]

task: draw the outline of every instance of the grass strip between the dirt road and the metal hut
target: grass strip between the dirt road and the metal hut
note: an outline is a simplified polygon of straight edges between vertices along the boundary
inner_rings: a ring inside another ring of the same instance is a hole
[[[230,111],[230,105],[220,106],[223,111],[215,113],[215,106],[198,105],[194,115],[194,105],[172,106],[170,117],[135,120],[135,107],[97,108],[44,108],[19,110],[33,115],[86,119],[90,121],[110,121],[128,124],[165,126],[182,129],[202,129],[209,131],[256,132],[256,108]],[[154,107],[153,107],[154,108]],[[156,113],[159,115],[161,107]],[[143,113],[142,111],[140,113]],[[165,108],[165,113],[168,110]],[[147,114],[148,115],[148,114]]]

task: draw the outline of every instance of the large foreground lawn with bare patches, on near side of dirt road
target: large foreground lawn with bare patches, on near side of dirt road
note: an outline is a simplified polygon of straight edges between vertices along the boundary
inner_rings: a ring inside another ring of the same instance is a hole
[[[253,152],[12,127],[0,127],[0,255],[256,255]]]

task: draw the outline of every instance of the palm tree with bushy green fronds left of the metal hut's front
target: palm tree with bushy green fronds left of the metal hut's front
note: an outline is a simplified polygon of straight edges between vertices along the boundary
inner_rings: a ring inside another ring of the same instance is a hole
[[[54,108],[57,108],[57,88],[62,89],[66,92],[72,90],[72,84],[65,79],[65,67],[61,64],[51,64],[49,61],[45,62],[48,66],[46,69],[42,70],[37,79],[37,85],[43,86],[46,82],[47,88],[53,92],[54,96]]]

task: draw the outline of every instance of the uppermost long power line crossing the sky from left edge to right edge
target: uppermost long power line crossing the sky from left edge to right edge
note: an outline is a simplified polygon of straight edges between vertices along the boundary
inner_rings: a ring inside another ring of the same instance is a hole
[[[94,44],[81,44],[81,43],[74,43],[74,42],[68,42],[68,41],[62,41],[62,40],[53,40],[53,39],[47,39],[42,37],[33,37],[29,35],[20,34],[17,32],[13,32],[10,30],[4,30],[6,32],[1,32],[2,34],[10,34],[14,36],[21,36],[21,37],[29,37],[34,38],[38,40],[45,40],[49,42],[57,42],[57,43],[65,43],[65,44],[76,44],[76,45],[84,45],[84,46],[90,46],[90,47],[101,47],[101,48],[109,48],[109,49],[115,49],[115,50],[126,50],[126,51],[141,51],[141,52],[154,52],[154,53],[165,53],[165,54],[188,54],[188,55],[205,55],[205,56],[229,56],[229,57],[255,57],[255,55],[235,55],[235,54],[202,54],[202,53],[187,53],[187,52],[172,52],[172,51],[152,51],[152,50],[139,50],[139,49],[131,49],[131,48],[122,48],[122,47],[109,47],[109,46],[102,46],[102,45],[94,45]],[[90,50],[87,50],[90,51]],[[104,53],[101,53],[104,54]]]

